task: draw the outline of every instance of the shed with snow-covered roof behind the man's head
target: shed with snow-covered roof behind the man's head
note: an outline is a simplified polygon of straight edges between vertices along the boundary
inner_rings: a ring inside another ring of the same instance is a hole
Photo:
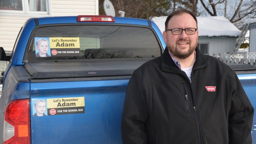
[[[164,31],[167,16],[153,17],[151,20]],[[241,31],[223,16],[197,17],[198,47],[206,54],[233,52],[236,39]]]

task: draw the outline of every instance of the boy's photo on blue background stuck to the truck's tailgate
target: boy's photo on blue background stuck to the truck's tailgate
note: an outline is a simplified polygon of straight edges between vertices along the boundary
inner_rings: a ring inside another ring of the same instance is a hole
[[[33,99],[32,100],[32,115],[37,116],[47,116],[47,103],[46,99]]]

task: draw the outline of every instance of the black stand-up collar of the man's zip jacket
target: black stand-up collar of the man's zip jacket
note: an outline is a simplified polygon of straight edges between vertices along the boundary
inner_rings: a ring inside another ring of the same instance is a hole
[[[208,62],[204,55],[201,53],[201,51],[196,48],[196,61],[194,63],[193,69],[201,69],[208,65]],[[162,65],[161,65],[162,71],[176,71],[180,72],[180,69],[175,65],[174,61],[172,60],[167,47],[165,48],[163,54],[162,54]]]

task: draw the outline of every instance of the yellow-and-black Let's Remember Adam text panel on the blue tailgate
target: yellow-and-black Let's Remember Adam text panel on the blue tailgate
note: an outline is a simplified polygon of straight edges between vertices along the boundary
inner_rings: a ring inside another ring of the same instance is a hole
[[[47,99],[47,114],[85,113],[84,97],[66,97]]]

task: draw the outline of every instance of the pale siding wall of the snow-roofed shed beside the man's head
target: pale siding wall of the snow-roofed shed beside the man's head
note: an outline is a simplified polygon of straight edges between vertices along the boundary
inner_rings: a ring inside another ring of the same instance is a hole
[[[208,53],[233,52],[236,38],[199,38],[198,43],[208,43]]]

